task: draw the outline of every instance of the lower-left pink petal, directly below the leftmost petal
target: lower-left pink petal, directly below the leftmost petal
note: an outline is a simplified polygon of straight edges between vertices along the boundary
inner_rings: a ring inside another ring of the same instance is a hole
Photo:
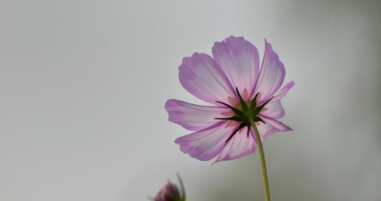
[[[225,127],[229,121],[221,121],[204,130],[179,137],[175,143],[180,150],[199,160],[214,158],[225,146],[225,141],[236,127]]]

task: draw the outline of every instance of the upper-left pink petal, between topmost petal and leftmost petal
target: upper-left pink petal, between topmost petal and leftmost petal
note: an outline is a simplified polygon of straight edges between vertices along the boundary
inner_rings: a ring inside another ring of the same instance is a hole
[[[216,104],[216,101],[227,103],[228,96],[235,97],[235,90],[228,78],[207,54],[194,53],[184,57],[179,66],[181,85],[196,97]]]

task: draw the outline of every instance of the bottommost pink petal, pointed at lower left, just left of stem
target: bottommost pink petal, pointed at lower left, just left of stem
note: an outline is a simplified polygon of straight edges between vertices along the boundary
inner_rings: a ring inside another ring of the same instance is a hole
[[[236,133],[233,138],[230,139],[214,163],[241,158],[256,151],[257,142],[254,140],[253,130],[250,129],[248,137],[246,135],[247,128],[245,127],[242,130],[242,132]]]

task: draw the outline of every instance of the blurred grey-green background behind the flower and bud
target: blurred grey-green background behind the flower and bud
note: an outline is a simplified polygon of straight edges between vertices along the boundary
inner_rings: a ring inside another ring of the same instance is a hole
[[[258,152],[183,154],[184,56],[264,38],[295,86],[264,148],[272,200],[381,200],[379,1],[0,1],[0,200],[264,200]]]

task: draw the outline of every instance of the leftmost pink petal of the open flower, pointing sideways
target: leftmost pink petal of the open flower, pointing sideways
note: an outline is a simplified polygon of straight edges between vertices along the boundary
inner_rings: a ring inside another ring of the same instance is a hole
[[[165,103],[169,121],[185,129],[199,131],[208,128],[225,118],[223,114],[230,113],[230,109],[218,106],[199,106],[181,100],[169,99]]]

